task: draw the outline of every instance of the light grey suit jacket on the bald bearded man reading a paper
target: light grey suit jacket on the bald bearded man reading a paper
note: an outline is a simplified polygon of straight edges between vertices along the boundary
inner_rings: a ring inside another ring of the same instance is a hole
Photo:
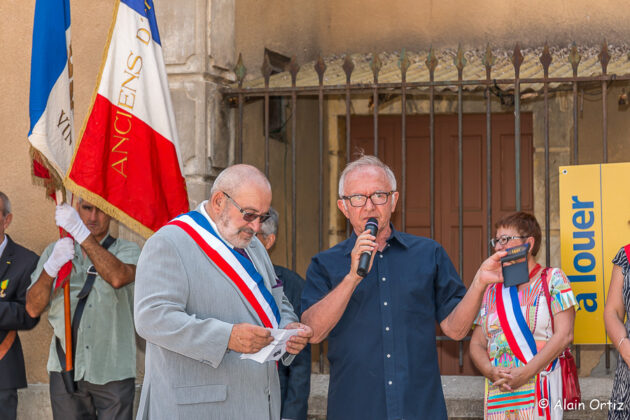
[[[265,248],[247,248],[280,309],[280,328],[297,321]],[[262,325],[254,309],[177,226],[145,244],[136,272],[135,324],[147,340],[137,419],[279,419],[275,362],[241,360],[228,351],[232,326]],[[290,361],[290,360],[288,360]]]

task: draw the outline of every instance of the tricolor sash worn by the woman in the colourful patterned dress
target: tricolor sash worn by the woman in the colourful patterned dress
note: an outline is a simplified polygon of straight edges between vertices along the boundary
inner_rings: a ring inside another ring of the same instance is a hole
[[[535,271],[533,271],[532,274],[535,274]],[[546,272],[543,272],[542,275],[546,275]],[[536,356],[538,350],[536,348],[534,334],[529,329],[529,325],[527,325],[527,321],[521,310],[521,304],[518,300],[518,288],[517,286],[505,287],[502,284],[497,284],[494,287],[496,288],[497,316],[503,333],[505,334],[505,339],[514,356],[523,364],[527,364]],[[549,407],[551,404],[550,384],[547,375],[556,367],[557,362],[558,359],[554,359],[544,371],[536,375],[536,405],[538,414],[545,416],[547,419],[551,418]],[[538,403],[541,400],[548,402],[546,407],[544,407],[544,404]]]

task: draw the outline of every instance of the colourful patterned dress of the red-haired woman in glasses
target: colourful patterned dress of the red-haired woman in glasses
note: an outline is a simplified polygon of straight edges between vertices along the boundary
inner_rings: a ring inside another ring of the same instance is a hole
[[[549,307],[542,290],[543,270],[537,265],[530,273],[530,283],[518,292],[521,311],[530,331],[534,335],[536,347],[540,350],[553,335]],[[551,295],[551,310],[553,314],[562,312],[570,307],[577,308],[577,302],[566,275],[559,268],[547,270],[547,284]],[[499,287],[501,287],[499,285]],[[475,324],[483,329],[488,340],[488,357],[494,366],[519,367],[524,364],[512,353],[507,339],[501,328],[496,310],[497,286],[488,287],[481,304]],[[550,383],[550,405],[552,419],[562,418],[562,375],[559,363],[550,372],[543,372]],[[530,378],[523,386],[510,392],[503,392],[486,378],[484,417],[490,420],[498,419],[535,419],[538,417],[536,402],[536,379]],[[554,409],[555,408],[555,409]],[[544,418],[544,417],[542,417]]]

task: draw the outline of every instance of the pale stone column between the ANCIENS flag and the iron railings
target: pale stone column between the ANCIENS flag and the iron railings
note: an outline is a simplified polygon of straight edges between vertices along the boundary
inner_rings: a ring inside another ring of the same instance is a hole
[[[229,111],[220,86],[234,80],[235,1],[156,0],[191,208],[232,161]]]

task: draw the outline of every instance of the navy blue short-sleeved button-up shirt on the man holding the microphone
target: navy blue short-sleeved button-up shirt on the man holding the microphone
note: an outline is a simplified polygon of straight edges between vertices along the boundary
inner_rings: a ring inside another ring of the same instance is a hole
[[[357,236],[313,257],[302,310],[348,274]],[[466,293],[435,241],[398,232],[359,283],[328,336],[329,420],[445,419],[435,323]]]

